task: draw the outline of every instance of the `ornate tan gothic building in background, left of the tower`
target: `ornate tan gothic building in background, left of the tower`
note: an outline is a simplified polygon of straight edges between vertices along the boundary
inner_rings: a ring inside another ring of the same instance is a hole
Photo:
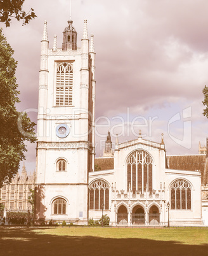
[[[31,196],[30,189],[34,190],[35,178],[35,172],[28,175],[23,164],[22,173],[17,173],[11,183],[3,185],[0,198],[7,211],[32,211],[28,197]]]

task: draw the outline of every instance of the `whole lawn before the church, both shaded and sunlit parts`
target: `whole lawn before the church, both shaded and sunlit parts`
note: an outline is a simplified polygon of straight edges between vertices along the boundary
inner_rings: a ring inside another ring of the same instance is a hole
[[[0,255],[132,254],[208,255],[208,229],[0,227]]]

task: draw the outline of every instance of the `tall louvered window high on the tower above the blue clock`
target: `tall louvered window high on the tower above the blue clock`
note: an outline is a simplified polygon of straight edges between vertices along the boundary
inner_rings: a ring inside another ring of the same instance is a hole
[[[60,63],[56,69],[56,106],[72,106],[73,69],[71,63]]]

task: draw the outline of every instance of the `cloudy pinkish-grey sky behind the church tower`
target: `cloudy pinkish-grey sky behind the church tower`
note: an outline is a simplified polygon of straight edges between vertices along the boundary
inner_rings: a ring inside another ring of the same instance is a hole
[[[37,109],[43,22],[48,22],[49,48],[70,14],[68,0],[25,0],[37,15],[28,25],[13,20],[3,27],[18,60],[18,110]],[[197,154],[205,144],[208,120],[202,115],[202,89],[208,80],[207,0],[72,0],[72,20],[81,46],[83,20],[94,34],[96,51],[97,156],[108,129],[119,143],[143,138],[160,142],[167,155]],[[30,115],[36,120],[36,113]],[[121,123],[124,122],[124,127]],[[36,145],[28,145],[25,166],[35,169]]]

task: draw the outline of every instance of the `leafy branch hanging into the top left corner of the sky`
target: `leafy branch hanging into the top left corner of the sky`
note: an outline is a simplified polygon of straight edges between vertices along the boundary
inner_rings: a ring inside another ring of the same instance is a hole
[[[27,13],[22,10],[24,2],[25,0],[0,0],[0,22],[4,22],[6,27],[10,27],[11,18],[22,20],[22,25],[29,23],[32,18],[36,18],[32,8]]]

